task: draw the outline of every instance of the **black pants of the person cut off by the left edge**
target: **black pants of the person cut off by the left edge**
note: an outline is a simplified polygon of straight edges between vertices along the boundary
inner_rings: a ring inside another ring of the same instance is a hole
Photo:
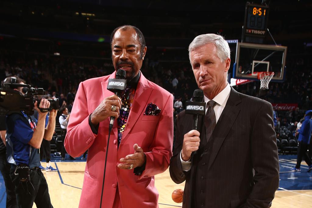
[[[7,192],[6,208],[17,208],[14,185],[10,177],[10,168],[11,164],[6,161],[6,152],[4,151],[0,154],[0,171],[3,176],[5,190]]]

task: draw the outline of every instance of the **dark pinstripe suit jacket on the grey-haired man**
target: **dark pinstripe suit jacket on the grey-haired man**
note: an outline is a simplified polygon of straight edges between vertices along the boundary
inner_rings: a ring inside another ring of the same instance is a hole
[[[182,111],[170,161],[175,183],[186,180],[183,208],[270,207],[279,185],[276,135],[272,105],[236,92],[230,96],[213,134],[201,142],[190,171],[182,171],[183,136],[192,130],[193,116]]]

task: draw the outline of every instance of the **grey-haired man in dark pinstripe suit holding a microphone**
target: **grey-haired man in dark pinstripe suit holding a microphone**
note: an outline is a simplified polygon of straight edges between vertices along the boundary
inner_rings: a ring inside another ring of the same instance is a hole
[[[229,57],[219,35],[197,36],[189,46],[207,107],[199,131],[192,130],[193,116],[185,111],[177,119],[169,170],[175,183],[186,181],[183,208],[270,207],[278,188],[272,105],[229,86]]]

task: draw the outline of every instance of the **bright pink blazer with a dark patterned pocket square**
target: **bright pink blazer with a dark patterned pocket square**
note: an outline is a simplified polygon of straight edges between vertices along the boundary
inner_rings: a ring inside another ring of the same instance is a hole
[[[115,78],[115,74],[116,72],[80,83],[67,126],[64,143],[66,151],[71,156],[78,157],[89,149],[79,203],[81,208],[100,207],[109,118],[100,122],[98,134],[95,135],[89,126],[89,115],[105,97],[114,94],[107,90],[107,83],[109,78]],[[144,116],[144,111],[151,102],[161,109],[160,115]],[[113,206],[117,186],[123,208],[158,207],[154,175],[168,168],[172,156],[172,94],[148,81],[141,73],[119,149],[117,133],[116,119],[110,135],[102,207]],[[117,167],[121,157],[134,153],[135,143],[143,148],[147,160],[140,176]]]

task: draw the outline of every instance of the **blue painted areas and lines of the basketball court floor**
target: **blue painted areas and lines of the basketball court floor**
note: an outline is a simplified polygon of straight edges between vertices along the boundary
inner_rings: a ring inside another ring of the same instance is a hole
[[[280,185],[278,190],[312,190],[312,171],[307,172],[308,166],[303,162],[301,165],[300,172],[292,172],[291,168],[295,167],[297,155],[280,155]],[[85,159],[81,157],[76,158],[76,160],[70,160],[66,158],[62,162],[85,162]],[[51,165],[55,166],[56,163],[61,162],[61,157],[51,157]],[[62,176],[59,172],[60,180],[62,182]],[[62,182],[62,184],[64,184]],[[64,184],[67,185],[67,184]],[[67,185],[69,186],[69,185]],[[72,186],[73,188],[77,188]],[[0,208],[5,208],[6,201],[6,191],[4,186],[4,181],[2,175],[0,174]]]

